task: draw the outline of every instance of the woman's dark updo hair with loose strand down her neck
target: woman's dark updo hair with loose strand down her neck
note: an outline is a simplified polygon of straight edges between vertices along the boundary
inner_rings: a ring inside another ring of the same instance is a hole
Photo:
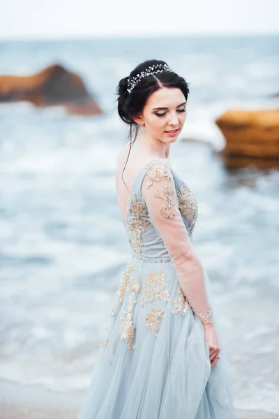
[[[146,71],[146,69],[149,68],[149,66],[156,66],[158,64],[167,65],[165,61],[161,61],[158,59],[149,59],[147,61],[144,61],[143,63],[139,64],[133,71],[131,71],[128,77],[124,77],[123,79],[121,79],[117,87],[117,109],[119,117],[121,117],[123,122],[130,126],[130,149],[132,147],[133,134],[135,133],[135,140],[139,132],[139,126],[134,121],[133,117],[137,117],[137,115],[139,115],[142,112],[147,99],[154,91],[160,89],[161,87],[178,87],[184,94],[186,101],[188,98],[188,83],[183,77],[174,73],[174,71],[162,71],[160,73],[146,75],[146,77],[142,78],[139,82],[137,82],[137,84],[135,85],[133,90],[130,91],[130,93],[128,92],[127,89],[130,87],[130,84],[128,85],[128,81],[130,82],[132,78],[134,78],[137,74],[141,73],[142,71]],[[128,162],[130,149],[125,166],[123,168],[123,172]]]

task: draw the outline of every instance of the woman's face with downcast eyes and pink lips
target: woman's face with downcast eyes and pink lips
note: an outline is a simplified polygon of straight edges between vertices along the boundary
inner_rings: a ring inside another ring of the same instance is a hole
[[[186,121],[186,98],[177,87],[163,87],[149,96],[140,121],[151,138],[175,142]]]

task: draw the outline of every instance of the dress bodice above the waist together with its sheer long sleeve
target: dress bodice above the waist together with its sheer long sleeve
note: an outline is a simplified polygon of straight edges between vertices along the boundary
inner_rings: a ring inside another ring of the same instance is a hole
[[[119,193],[119,204],[121,199]],[[169,162],[151,159],[135,176],[123,223],[133,257],[172,262],[183,294],[203,321],[211,318],[211,304],[192,246],[197,211],[195,195]]]

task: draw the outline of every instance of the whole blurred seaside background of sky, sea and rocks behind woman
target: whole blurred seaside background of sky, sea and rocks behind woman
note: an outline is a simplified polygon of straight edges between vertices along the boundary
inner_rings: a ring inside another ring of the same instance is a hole
[[[199,201],[234,404],[279,418],[278,15],[277,0],[0,1],[2,407],[50,391],[78,406],[89,386],[130,257],[116,86],[163,59],[190,83],[171,160]]]

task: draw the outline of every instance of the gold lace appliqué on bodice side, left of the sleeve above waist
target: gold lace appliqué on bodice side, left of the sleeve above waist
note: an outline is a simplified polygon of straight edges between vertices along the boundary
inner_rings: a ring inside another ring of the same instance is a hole
[[[126,222],[129,243],[136,253],[140,253],[143,246],[142,233],[144,233],[146,227],[149,226],[150,221],[140,218],[141,216],[146,216],[147,212],[144,209],[144,204],[137,201],[135,192],[133,193],[133,198],[130,198],[130,205],[128,211],[135,218],[131,218]]]

